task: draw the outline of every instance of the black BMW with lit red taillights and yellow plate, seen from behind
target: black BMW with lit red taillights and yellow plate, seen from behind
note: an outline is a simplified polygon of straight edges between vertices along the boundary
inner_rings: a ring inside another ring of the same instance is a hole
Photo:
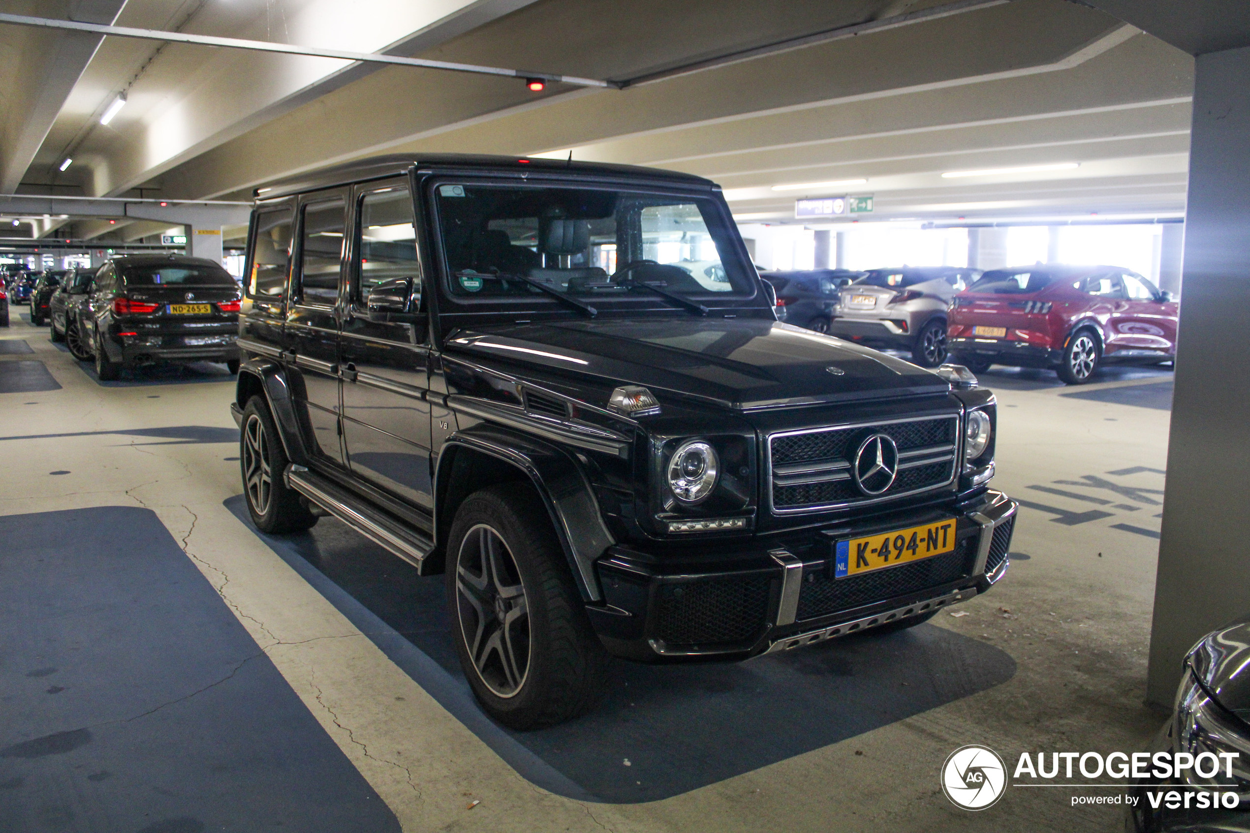
[[[239,285],[210,260],[119,257],[100,267],[78,307],[78,350],[90,353],[102,380],[158,361],[225,362],[236,373],[239,306]]]

